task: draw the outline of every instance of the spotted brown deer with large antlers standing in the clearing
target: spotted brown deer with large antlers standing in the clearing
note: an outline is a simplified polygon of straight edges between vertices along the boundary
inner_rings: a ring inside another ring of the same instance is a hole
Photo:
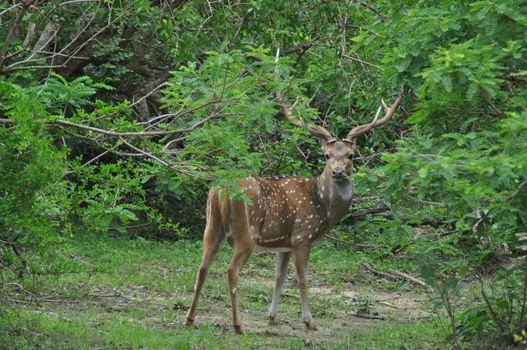
[[[233,246],[227,275],[235,333],[243,333],[238,310],[238,276],[253,251],[276,253],[275,287],[269,307],[269,323],[276,324],[282,285],[289,260],[294,255],[302,320],[308,330],[317,329],[308,306],[307,267],[310,250],[350,207],[354,189],[349,177],[357,138],[387,123],[401,103],[402,96],[401,91],[390,107],[381,100],[381,106],[370,123],[352,128],[344,139],[339,140],[320,125],[306,125],[302,118],[294,118],[293,111],[284,102],[283,94],[276,92],[284,116],[297,127],[307,127],[309,133],[320,141],[325,168],[314,179],[301,176],[247,177],[239,182],[249,199],[245,201],[231,199],[218,189],[209,191],[202,259],[196,275],[192,304],[186,316],[187,325],[194,324],[203,283],[220,244],[227,237]],[[379,119],[382,107],[385,115]]]

